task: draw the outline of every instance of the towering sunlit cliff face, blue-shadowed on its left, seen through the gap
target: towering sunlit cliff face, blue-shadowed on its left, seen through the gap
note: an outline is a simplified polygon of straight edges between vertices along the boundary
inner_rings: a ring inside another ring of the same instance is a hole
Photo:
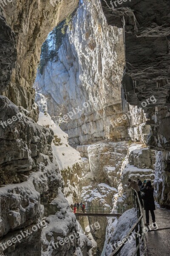
[[[126,121],[113,122],[122,115],[122,46],[122,29],[108,26],[99,1],[84,1],[59,49],[59,61],[48,62],[43,75],[37,75],[40,92],[50,96],[48,113],[54,117],[61,105],[63,116],[73,112],[61,125],[72,145],[127,137]]]

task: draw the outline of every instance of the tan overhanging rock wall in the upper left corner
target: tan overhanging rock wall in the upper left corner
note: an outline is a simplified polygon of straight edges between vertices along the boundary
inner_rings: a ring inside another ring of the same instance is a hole
[[[35,120],[38,113],[31,108],[34,104],[32,84],[41,45],[54,26],[73,12],[77,4],[78,0],[1,3],[0,94],[28,108]]]

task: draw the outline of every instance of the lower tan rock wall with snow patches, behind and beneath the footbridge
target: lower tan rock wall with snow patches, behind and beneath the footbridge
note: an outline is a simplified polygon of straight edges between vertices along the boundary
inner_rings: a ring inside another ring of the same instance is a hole
[[[132,207],[128,179],[154,183],[156,152],[146,145],[131,141],[102,141],[77,146],[82,157],[82,201],[86,206]],[[98,222],[99,230],[91,230],[97,243],[97,255],[105,255],[106,245],[116,227],[116,218],[88,217],[88,224]],[[87,221],[86,221],[87,222]],[[105,241],[103,239],[105,237]]]

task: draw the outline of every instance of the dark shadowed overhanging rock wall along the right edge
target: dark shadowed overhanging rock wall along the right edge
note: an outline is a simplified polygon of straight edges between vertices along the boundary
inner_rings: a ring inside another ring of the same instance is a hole
[[[101,0],[101,3],[108,24],[122,27],[124,31],[123,101],[140,106],[152,96],[156,99],[156,103],[144,107],[146,124],[150,125],[147,144],[153,149],[162,151],[160,154],[163,157],[158,155],[157,159],[156,189],[157,195],[161,195],[159,202],[169,207],[167,199],[169,194],[167,166],[170,163],[168,3],[166,0],[162,2],[155,0],[152,3],[146,0],[139,0],[137,3],[123,1],[117,6],[112,6],[109,0]],[[164,169],[160,170],[158,166]]]

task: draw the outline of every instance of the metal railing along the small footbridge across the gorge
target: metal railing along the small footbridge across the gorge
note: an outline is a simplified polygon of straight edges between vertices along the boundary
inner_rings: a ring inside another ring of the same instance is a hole
[[[75,213],[88,213],[88,214],[122,214],[125,212],[125,206],[88,206],[83,210],[81,207],[77,207]]]

